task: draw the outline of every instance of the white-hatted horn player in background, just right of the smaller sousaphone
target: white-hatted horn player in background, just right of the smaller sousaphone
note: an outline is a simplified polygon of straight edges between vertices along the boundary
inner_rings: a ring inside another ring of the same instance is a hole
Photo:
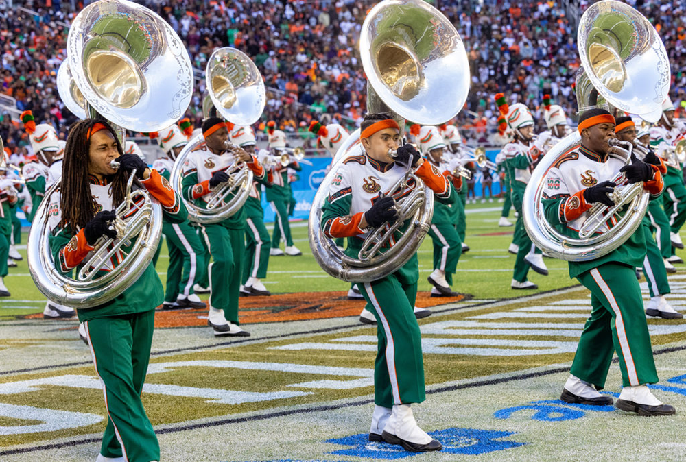
[[[269,133],[269,148],[274,156],[281,156],[286,147],[286,134],[281,130],[270,130]],[[272,250],[270,255],[281,256],[286,254],[288,256],[302,255],[300,249],[293,244],[291,236],[291,226],[288,222],[288,207],[291,200],[291,186],[288,182],[288,168],[291,167],[300,171],[300,165],[296,160],[293,160],[289,165],[276,165],[273,167],[272,174],[274,175],[274,184],[266,189],[267,202],[274,209],[274,234],[272,234]],[[286,243],[285,249],[282,251],[279,248],[281,236]]]

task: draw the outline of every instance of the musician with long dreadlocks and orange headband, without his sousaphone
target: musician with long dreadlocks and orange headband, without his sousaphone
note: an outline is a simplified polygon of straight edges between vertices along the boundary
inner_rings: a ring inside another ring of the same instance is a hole
[[[111,167],[112,160],[119,162],[119,169]],[[129,175],[136,175],[140,187],[160,202],[169,221],[186,219],[186,208],[169,182],[138,156],[123,154],[106,121],[84,119],[71,127],[64,149],[62,186],[51,195],[48,208],[49,245],[60,273],[78,270],[102,237],[117,236],[110,223],[115,219],[113,209],[125,199]],[[122,251],[130,252],[130,248],[122,247],[119,253]],[[109,264],[102,271],[114,267]],[[155,308],[163,297],[162,282],[148,265],[114,300],[78,310],[102,380],[108,415],[98,460],[123,456],[128,461],[148,462],[160,458],[141,391],[150,359]]]

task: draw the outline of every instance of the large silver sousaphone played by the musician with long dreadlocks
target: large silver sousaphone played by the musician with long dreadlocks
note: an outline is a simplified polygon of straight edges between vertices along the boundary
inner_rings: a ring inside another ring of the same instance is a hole
[[[102,114],[119,132],[122,145],[123,128],[162,130],[185,112],[191,100],[191,60],[180,38],[152,10],[130,1],[100,0],[81,10],[69,29],[67,62],[60,72],[64,77],[67,69],[71,71],[73,84],[84,97],[81,115]],[[73,84],[67,93],[60,90],[65,104],[65,95],[75,93]],[[70,109],[77,113],[77,108]],[[119,164],[113,161],[111,166]],[[36,210],[40,219],[29,232],[27,260],[36,287],[49,300],[75,308],[104,304],[126,291],[150,265],[161,236],[162,208],[145,188],[136,189],[134,180],[134,175],[128,176],[125,200],[115,209],[117,237],[99,239],[75,278],[56,269],[48,245],[47,211],[58,200],[61,181],[45,193]],[[115,253],[123,257],[121,263],[99,276]]]

